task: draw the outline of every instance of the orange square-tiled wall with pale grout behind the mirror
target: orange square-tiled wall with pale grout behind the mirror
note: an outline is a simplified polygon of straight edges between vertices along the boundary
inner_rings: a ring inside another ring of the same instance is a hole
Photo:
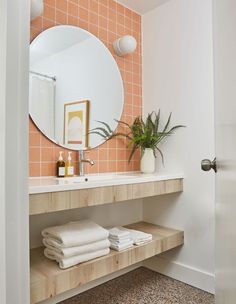
[[[96,35],[110,49],[120,68],[125,87],[125,104],[122,120],[132,122],[142,112],[141,81],[141,17],[113,0],[44,0],[42,17],[31,23],[31,40],[43,30],[59,25],[79,26]],[[133,35],[138,42],[134,54],[118,57],[112,43],[122,35]],[[30,176],[54,176],[59,151],[30,120]],[[87,173],[121,172],[139,170],[139,153],[128,164],[129,149],[121,139],[111,140],[99,148],[86,152],[96,165],[86,166]],[[64,157],[67,150],[64,149]],[[73,152],[77,164],[77,153]]]

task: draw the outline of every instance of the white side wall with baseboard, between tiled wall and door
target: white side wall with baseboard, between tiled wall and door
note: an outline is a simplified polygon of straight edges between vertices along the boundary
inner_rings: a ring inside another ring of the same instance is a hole
[[[182,195],[145,200],[144,219],[183,229],[185,245],[150,265],[200,288],[214,289],[214,173],[200,169],[214,157],[211,0],[171,0],[143,16],[144,112],[173,112],[187,126],[162,149],[165,168],[183,171]],[[171,263],[170,263],[171,262]],[[159,265],[159,266],[158,266]],[[168,265],[168,267],[167,267]],[[191,273],[191,275],[190,275]]]

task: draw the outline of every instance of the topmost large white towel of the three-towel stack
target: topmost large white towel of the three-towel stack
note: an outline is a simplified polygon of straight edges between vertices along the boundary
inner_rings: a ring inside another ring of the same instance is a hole
[[[109,232],[89,220],[70,222],[62,226],[46,228],[44,238],[50,239],[50,245],[60,248],[86,245],[108,238]]]

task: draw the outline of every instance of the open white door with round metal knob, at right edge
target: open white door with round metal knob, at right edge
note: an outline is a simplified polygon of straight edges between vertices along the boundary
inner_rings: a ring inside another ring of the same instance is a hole
[[[214,0],[216,303],[236,303],[236,1]]]

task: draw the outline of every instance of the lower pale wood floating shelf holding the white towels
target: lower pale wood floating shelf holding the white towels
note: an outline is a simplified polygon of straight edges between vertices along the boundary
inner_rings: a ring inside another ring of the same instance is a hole
[[[180,246],[184,242],[182,231],[144,222],[127,227],[151,233],[153,240],[145,245],[135,246],[122,252],[111,251],[107,256],[66,270],[61,270],[56,262],[45,258],[43,248],[31,250],[31,304],[80,287],[95,279]]]

